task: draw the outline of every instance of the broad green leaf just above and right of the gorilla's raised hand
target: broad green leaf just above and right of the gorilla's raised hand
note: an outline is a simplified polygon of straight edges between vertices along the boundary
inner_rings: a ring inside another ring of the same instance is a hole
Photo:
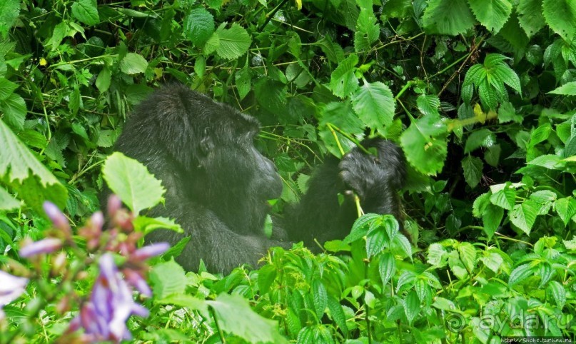
[[[440,118],[424,116],[402,133],[400,144],[408,162],[417,171],[435,176],[442,170],[448,154],[447,130]]]

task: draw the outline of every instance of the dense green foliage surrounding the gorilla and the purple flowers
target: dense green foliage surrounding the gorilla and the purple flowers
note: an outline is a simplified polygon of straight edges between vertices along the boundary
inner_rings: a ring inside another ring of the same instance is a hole
[[[278,213],[323,157],[364,136],[400,143],[413,244],[366,214],[317,256],[273,248],[228,276],[158,261],[151,315],[128,322],[137,340],[575,339],[575,1],[99,2],[0,1],[0,263],[14,274],[21,240],[49,228],[44,200],[73,223],[99,208],[104,179],[136,214],[161,201],[135,162],[101,166],[131,108],[177,80],[263,123]],[[64,333],[78,308],[32,311],[38,292],[0,303],[0,342]]]

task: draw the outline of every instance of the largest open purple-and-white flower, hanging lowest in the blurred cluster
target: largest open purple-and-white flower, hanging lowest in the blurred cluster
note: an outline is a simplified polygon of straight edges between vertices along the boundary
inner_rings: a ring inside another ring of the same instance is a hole
[[[79,318],[71,323],[71,328],[84,328],[87,338],[94,342],[120,342],[130,339],[131,333],[126,328],[126,320],[132,314],[146,317],[148,310],[134,302],[132,290],[122,279],[110,253],[101,256],[98,263],[100,275],[96,279],[90,300],[84,303]]]

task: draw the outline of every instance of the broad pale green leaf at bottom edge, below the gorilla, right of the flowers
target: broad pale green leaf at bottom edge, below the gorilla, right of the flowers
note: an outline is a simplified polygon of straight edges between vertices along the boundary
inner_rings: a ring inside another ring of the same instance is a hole
[[[240,295],[221,293],[216,300],[206,303],[214,310],[218,326],[226,333],[248,343],[288,343],[278,333],[278,322],[258,315]]]

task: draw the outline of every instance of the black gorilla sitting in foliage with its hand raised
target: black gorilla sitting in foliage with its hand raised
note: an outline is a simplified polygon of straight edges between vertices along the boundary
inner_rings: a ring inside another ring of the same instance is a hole
[[[187,270],[203,259],[209,270],[229,272],[242,263],[256,266],[271,246],[286,241],[344,238],[356,217],[353,201],[338,203],[338,193],[354,191],[365,212],[399,215],[397,190],[405,176],[400,148],[385,140],[378,158],[354,148],[341,161],[326,159],[310,179],[308,193],[288,207],[281,226],[263,233],[268,200],[278,198],[282,181],[276,166],[254,147],[259,123],[223,103],[173,84],[159,89],[132,114],[116,150],[144,163],[166,187],[166,205],[151,216],[176,220],[185,233],[158,230],[149,241],[191,241],[178,257]]]

